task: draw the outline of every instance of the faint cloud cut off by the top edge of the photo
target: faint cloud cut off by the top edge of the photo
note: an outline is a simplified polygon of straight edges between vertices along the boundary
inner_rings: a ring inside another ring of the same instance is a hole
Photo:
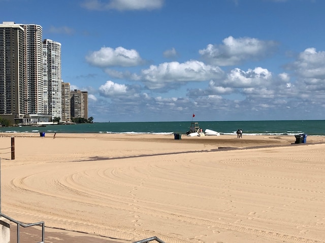
[[[154,10],[163,7],[164,0],[85,0],[81,6],[88,10]]]

